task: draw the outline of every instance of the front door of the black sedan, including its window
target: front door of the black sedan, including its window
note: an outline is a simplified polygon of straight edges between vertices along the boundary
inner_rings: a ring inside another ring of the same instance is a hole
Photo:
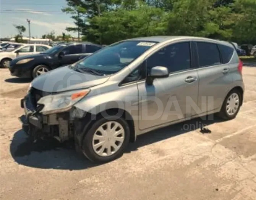
[[[62,52],[65,55],[59,58],[59,66],[70,65],[82,59],[84,49],[83,44],[70,45],[64,48]]]

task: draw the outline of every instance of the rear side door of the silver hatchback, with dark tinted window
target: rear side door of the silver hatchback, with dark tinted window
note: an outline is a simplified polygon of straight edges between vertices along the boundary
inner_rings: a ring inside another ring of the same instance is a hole
[[[230,66],[227,64],[234,53],[234,49],[221,56],[223,46],[212,42],[196,42],[198,53],[199,76],[199,113],[219,109],[225,98],[226,91],[232,83]],[[225,46],[224,46],[225,48]]]

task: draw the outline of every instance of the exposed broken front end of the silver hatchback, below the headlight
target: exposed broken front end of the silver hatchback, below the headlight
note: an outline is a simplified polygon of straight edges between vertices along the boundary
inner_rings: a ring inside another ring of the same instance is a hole
[[[32,103],[32,97],[28,94],[21,99],[21,107],[24,115],[19,117],[23,130],[34,140],[38,138],[54,137],[60,142],[73,137],[73,120],[69,112],[43,115]]]

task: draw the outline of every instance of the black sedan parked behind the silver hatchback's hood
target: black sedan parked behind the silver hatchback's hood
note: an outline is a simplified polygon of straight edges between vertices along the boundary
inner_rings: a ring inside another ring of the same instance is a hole
[[[18,57],[11,61],[9,70],[16,77],[35,78],[57,67],[73,64],[101,48],[103,46],[88,42],[65,43],[40,54]]]

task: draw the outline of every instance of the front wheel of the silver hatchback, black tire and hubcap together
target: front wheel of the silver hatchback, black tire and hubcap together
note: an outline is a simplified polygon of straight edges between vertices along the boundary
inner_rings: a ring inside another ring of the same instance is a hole
[[[94,162],[109,162],[123,155],[129,138],[130,129],[123,118],[100,118],[84,136],[82,152]]]

